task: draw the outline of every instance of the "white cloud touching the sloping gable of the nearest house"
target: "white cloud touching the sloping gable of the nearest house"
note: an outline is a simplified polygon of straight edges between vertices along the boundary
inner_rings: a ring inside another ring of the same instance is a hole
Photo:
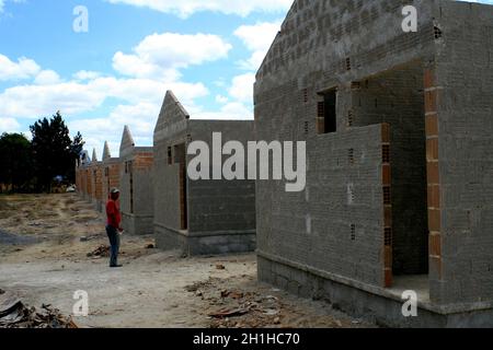
[[[282,21],[262,22],[254,25],[242,25],[234,31],[243,45],[252,51],[252,56],[240,61],[240,66],[246,70],[257,70],[264,60],[272,43],[280,30]]]

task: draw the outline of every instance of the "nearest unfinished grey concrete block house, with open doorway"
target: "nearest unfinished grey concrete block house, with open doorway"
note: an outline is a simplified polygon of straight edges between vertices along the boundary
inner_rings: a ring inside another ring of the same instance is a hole
[[[254,103],[256,139],[308,162],[303,192],[256,184],[262,281],[387,325],[493,324],[493,7],[297,0]]]

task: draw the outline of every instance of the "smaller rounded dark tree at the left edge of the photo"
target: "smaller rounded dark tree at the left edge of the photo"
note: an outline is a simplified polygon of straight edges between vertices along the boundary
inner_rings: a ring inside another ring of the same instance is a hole
[[[0,183],[13,191],[26,190],[33,176],[31,142],[21,133],[0,137]]]

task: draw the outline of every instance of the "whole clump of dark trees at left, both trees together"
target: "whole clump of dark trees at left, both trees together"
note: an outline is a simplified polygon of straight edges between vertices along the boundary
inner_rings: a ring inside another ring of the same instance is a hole
[[[70,131],[59,112],[30,127],[32,138],[22,133],[0,137],[0,190],[9,192],[51,191],[54,184],[73,184],[74,165],[84,141]]]

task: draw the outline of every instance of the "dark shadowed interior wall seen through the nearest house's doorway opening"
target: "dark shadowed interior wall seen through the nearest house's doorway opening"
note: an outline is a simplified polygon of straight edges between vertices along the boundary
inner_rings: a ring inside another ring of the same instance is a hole
[[[425,103],[421,61],[354,84],[353,126],[391,126],[393,273],[428,272]]]

